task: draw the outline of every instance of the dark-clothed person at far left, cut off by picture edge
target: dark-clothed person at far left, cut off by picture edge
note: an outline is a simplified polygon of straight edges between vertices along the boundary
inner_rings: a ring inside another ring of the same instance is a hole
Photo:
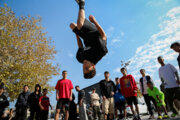
[[[4,85],[0,85],[0,120],[4,119],[4,110],[9,106],[9,101],[7,97],[4,95]]]

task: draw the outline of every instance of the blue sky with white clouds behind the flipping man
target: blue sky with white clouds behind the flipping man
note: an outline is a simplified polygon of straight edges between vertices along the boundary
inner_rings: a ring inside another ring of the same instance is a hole
[[[82,65],[76,60],[77,43],[69,28],[76,22],[78,6],[74,0],[1,0],[16,13],[16,16],[41,16],[48,36],[55,41],[55,63],[68,71],[74,86],[81,88],[99,82],[108,70],[111,79],[122,76],[121,60],[131,60],[129,73],[139,80],[139,69],[145,68],[159,86],[159,65],[156,57],[162,55],[166,62],[177,67],[176,57],[169,46],[180,41],[179,0],[86,0],[86,17],[94,15],[108,36],[109,53],[97,64],[97,75],[85,80]],[[60,76],[53,77],[50,84],[56,85]],[[75,91],[74,91],[75,92]],[[76,93],[76,92],[75,92]],[[55,94],[51,95],[52,104]]]

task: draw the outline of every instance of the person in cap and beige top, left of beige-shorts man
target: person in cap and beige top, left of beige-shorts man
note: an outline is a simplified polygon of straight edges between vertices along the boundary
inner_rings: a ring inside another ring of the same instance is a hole
[[[96,93],[96,88],[92,89],[91,93],[91,105],[93,107],[93,117],[96,120],[101,120],[101,111],[100,111],[100,103],[99,103],[99,95]]]

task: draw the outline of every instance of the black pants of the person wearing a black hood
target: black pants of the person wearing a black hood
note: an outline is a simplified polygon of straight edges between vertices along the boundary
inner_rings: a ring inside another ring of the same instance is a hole
[[[29,120],[34,120],[34,116],[35,116],[36,120],[40,120],[40,108],[30,109],[30,119]]]

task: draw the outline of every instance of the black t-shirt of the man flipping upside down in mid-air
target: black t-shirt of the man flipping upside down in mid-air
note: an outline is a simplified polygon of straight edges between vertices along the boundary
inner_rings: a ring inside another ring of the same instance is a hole
[[[107,40],[102,40],[101,37],[96,37],[97,40],[91,41],[91,44],[79,48],[76,54],[76,58],[80,63],[83,63],[83,60],[88,60],[94,64],[97,64],[99,60],[108,52],[106,44]]]

